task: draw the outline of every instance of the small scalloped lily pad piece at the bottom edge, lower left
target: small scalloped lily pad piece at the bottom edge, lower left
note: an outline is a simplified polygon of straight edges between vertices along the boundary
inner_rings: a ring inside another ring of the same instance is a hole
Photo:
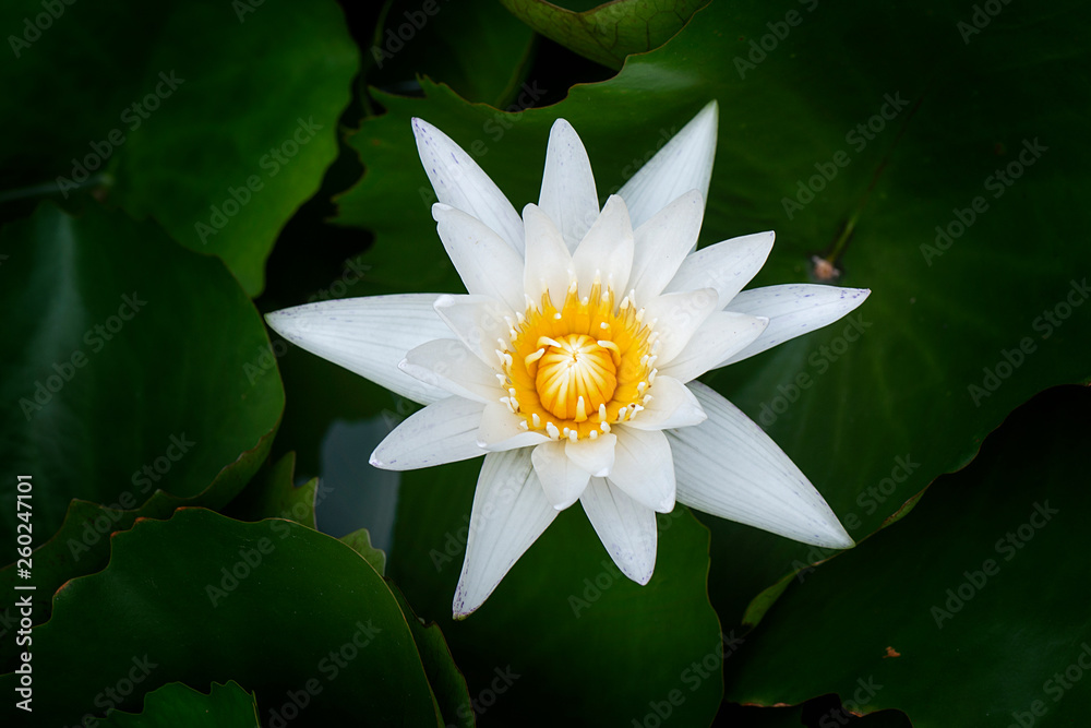
[[[208,694],[180,682],[171,682],[144,696],[140,714],[110,711],[104,726],[110,728],[173,728],[211,726],[212,728],[253,728],[261,725],[254,696],[239,683],[212,683]]]

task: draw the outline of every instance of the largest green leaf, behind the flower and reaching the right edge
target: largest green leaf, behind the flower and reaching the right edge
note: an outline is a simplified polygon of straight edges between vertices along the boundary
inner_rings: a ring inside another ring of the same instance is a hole
[[[956,3],[806,2],[786,13],[712,3],[614,79],[509,116],[493,135],[481,133],[491,112],[442,86],[424,84],[422,99],[386,96],[388,112],[352,140],[368,174],[341,198],[340,222],[376,234],[375,293],[458,291],[410,117],[461,144],[518,208],[538,199],[556,117],[580,133],[604,196],[718,98],[703,243],[776,229],[755,286],[812,281],[812,255],[825,249],[839,284],[873,294],[848,320],[706,381],[766,427],[859,540],[964,465],[1012,407],[1091,374],[1091,220],[1080,203],[1091,154],[1074,141],[1091,100],[1074,73],[1088,60],[1075,31],[1088,11],[1005,5],[1003,22],[969,44],[957,23],[973,10]],[[1020,175],[1011,187],[996,176],[1008,168]],[[937,226],[950,246],[936,243]],[[829,556],[705,521],[726,622],[781,575]]]

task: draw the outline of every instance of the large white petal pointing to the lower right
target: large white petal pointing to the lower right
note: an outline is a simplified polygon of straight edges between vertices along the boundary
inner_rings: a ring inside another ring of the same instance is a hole
[[[690,387],[708,421],[668,434],[680,502],[804,544],[853,545],[818,491],[762,428],[704,384]]]

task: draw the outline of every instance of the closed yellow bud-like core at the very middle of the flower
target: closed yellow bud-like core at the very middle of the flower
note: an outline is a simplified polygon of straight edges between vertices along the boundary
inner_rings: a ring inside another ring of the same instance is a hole
[[[535,387],[542,407],[559,419],[583,422],[613,397],[618,389],[618,365],[613,342],[599,344],[587,334],[565,334],[559,339],[542,336],[546,353],[538,359]]]

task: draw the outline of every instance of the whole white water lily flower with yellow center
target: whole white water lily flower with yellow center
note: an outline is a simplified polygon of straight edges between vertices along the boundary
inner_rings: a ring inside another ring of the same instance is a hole
[[[373,465],[485,456],[455,617],[481,606],[577,500],[640,584],[656,563],[656,512],[675,500],[805,544],[853,545],[791,460],[696,381],[836,321],[868,294],[802,284],[742,291],[772,232],[693,252],[717,119],[712,102],[601,212],[587,153],[559,119],[539,202],[521,219],[469,155],[413,119],[440,238],[469,294],[266,317],[296,345],[428,405],[391,432]]]

